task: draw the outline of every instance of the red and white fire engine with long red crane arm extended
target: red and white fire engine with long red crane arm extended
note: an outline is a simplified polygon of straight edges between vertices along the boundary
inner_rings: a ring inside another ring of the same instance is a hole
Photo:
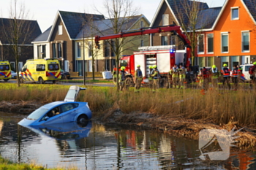
[[[95,43],[99,45],[100,40],[116,39],[127,36],[137,36],[143,34],[154,34],[170,31],[171,34],[177,35],[184,42],[184,50],[176,50],[175,45],[165,46],[149,46],[139,47],[139,52],[134,52],[133,55],[123,56],[120,58],[120,66],[125,66],[126,84],[134,85],[136,66],[140,65],[143,73],[143,83],[148,82],[149,66],[157,65],[160,72],[160,84],[163,87],[168,87],[169,71],[174,64],[182,65],[185,68],[190,66],[191,45],[187,36],[181,32],[180,26],[159,26],[157,28],[140,28],[140,31],[121,32],[107,36],[95,36]]]

